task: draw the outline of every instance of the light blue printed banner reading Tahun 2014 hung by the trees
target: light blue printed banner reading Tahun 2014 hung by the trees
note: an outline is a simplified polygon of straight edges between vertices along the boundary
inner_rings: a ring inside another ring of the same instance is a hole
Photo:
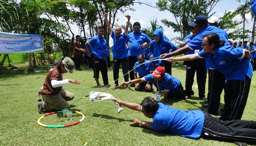
[[[41,35],[0,32],[0,54],[42,53]]]

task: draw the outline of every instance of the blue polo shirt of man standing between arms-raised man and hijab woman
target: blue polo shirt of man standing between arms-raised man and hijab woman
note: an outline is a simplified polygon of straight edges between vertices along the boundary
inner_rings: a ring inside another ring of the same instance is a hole
[[[151,39],[141,31],[139,34],[135,34],[133,31],[127,35],[126,41],[130,43],[128,56],[136,57],[138,53],[144,53],[142,47],[140,47],[140,44],[143,44],[144,42],[149,43]]]

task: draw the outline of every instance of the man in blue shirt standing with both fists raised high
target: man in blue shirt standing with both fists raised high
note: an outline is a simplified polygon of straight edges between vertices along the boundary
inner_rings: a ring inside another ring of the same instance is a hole
[[[113,76],[115,80],[115,86],[118,86],[118,78],[119,78],[119,67],[120,64],[122,64],[122,71],[124,76],[124,81],[129,80],[129,75],[128,75],[128,56],[127,56],[127,47],[126,47],[126,38],[128,34],[128,27],[130,23],[131,16],[126,15],[127,17],[127,22],[125,26],[124,33],[122,33],[122,28],[120,26],[116,26],[115,30],[113,31],[112,28],[110,27],[108,18],[108,14],[104,14],[104,18],[106,21],[106,24],[108,26],[108,30],[110,32],[110,35],[113,39],[114,45],[112,46],[112,51],[113,51]],[[128,85],[126,86],[126,89],[129,89]]]

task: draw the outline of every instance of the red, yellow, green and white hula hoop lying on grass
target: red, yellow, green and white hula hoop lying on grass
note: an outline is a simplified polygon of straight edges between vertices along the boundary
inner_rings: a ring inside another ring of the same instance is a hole
[[[73,126],[73,125],[76,125],[80,122],[82,122],[85,118],[84,114],[82,112],[78,112],[78,111],[69,111],[69,112],[73,112],[73,113],[77,113],[77,114],[80,114],[83,116],[83,118],[81,120],[79,120],[78,122],[75,122],[75,123],[72,123],[72,124],[67,124],[67,125],[45,125],[45,124],[42,124],[40,122],[40,120],[42,118],[44,118],[45,116],[48,116],[48,115],[52,115],[52,114],[56,114],[56,113],[62,113],[62,111],[57,111],[57,112],[50,112],[48,114],[45,114],[43,116],[41,116],[38,120],[37,120],[37,123],[40,125],[40,126],[43,126],[43,127],[46,127],[46,128],[64,128],[64,127],[69,127],[69,126]]]

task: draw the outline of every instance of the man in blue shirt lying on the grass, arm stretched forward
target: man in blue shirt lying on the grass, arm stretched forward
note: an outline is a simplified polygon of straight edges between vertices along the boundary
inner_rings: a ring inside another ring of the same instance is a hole
[[[128,103],[117,100],[117,103],[131,110],[143,112],[152,123],[133,118],[130,126],[142,126],[154,131],[166,131],[192,139],[200,137],[221,141],[256,142],[256,122],[248,120],[223,121],[202,111],[181,111],[168,105],[157,103],[146,97],[142,103]]]

